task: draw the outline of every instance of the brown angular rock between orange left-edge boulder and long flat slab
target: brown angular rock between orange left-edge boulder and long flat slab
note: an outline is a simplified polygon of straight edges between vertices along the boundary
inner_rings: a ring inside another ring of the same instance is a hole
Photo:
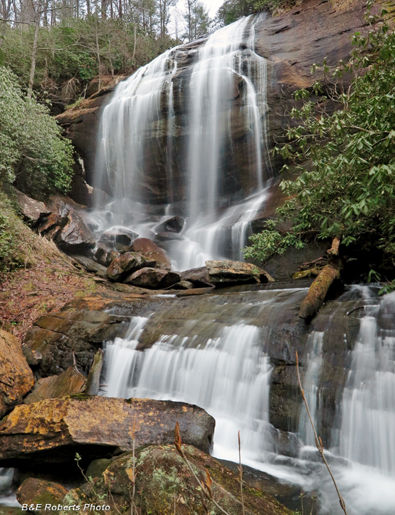
[[[75,367],[69,367],[59,376],[38,379],[32,391],[23,400],[24,404],[33,404],[44,399],[56,399],[71,396],[84,391],[86,378]]]

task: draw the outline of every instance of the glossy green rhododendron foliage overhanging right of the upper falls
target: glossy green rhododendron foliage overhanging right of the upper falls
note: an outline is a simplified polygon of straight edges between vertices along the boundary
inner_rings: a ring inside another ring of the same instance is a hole
[[[253,236],[246,258],[336,236],[345,245],[395,251],[395,33],[369,10],[366,17],[367,33],[352,37],[351,60],[336,67],[335,82],[324,62],[323,79],[295,94],[302,107],[291,111],[289,143],[275,151],[299,175],[280,184],[287,200],[278,220]],[[341,87],[344,73],[353,76],[348,89]],[[292,230],[281,231],[284,222]]]

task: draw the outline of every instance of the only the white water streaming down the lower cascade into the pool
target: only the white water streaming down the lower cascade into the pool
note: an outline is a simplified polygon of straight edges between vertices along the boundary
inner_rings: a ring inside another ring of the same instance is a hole
[[[350,354],[343,400],[337,407],[341,417],[339,429],[333,421],[333,433],[340,444],[326,453],[332,460],[332,472],[349,515],[392,515],[395,327],[383,330],[379,321],[385,319],[385,306],[395,304],[395,294],[379,302],[377,297],[370,297],[369,288],[354,288],[358,289],[365,310],[359,312],[363,315],[360,331]],[[296,483],[306,491],[318,492],[320,513],[341,515],[326,468],[320,461],[308,459],[314,454],[314,439],[303,410],[299,431],[305,446],[300,457],[278,454],[278,432],[269,424],[272,365],[267,352],[271,328],[251,323],[251,316],[259,319],[265,310],[270,310],[276,325],[275,314],[286,309],[287,301],[299,298],[293,296],[304,293],[278,290],[254,295],[233,305],[234,322],[229,320],[229,325],[216,320],[223,321],[223,309],[233,302],[232,296],[225,304],[218,304],[218,314],[213,319],[207,314],[184,319],[182,326],[177,323],[177,334],[162,334],[144,352],[136,347],[150,319],[134,317],[128,337],[106,345],[106,395],[177,400],[203,407],[216,419],[214,456],[237,461],[240,430],[244,464]],[[309,356],[304,389],[317,428],[324,336],[325,330],[311,332],[306,343]]]

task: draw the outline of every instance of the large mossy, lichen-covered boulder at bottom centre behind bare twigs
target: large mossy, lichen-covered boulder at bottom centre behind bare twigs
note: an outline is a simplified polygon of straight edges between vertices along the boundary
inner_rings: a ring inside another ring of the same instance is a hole
[[[181,432],[181,437],[183,434]],[[192,446],[183,445],[194,474],[200,481],[207,479],[207,472],[212,477],[212,496],[225,513],[242,514],[240,499],[240,479],[238,472],[229,470],[213,457]],[[192,476],[188,465],[177,453],[174,445],[149,446],[139,448],[135,453],[135,505],[137,513],[157,515],[190,515],[206,513],[201,503],[198,484]],[[133,455],[126,453],[106,468],[102,476],[95,481],[96,496],[108,494],[107,512],[111,515],[131,511],[131,477],[133,477]],[[139,492],[137,494],[137,492]],[[292,515],[293,512],[281,505],[274,496],[266,491],[253,488],[243,483],[243,501],[246,515]],[[66,505],[84,505],[91,503],[93,488],[85,483],[80,488],[70,490],[65,496]],[[207,502],[207,505],[210,503]],[[67,515],[62,512],[61,515]],[[219,513],[219,510],[210,510]]]

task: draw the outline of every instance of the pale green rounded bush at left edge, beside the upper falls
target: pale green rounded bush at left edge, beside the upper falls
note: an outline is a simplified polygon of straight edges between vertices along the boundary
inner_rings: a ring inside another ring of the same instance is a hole
[[[40,194],[67,192],[73,151],[47,107],[23,95],[18,79],[0,68],[0,182]]]

